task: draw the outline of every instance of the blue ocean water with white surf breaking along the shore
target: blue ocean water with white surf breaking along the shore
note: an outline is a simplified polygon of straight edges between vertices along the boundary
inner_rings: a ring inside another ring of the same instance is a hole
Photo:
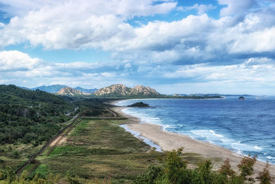
[[[275,98],[255,96],[225,99],[138,99],[153,108],[126,108],[142,122],[162,125],[168,132],[226,147],[243,155],[258,155],[275,164]]]

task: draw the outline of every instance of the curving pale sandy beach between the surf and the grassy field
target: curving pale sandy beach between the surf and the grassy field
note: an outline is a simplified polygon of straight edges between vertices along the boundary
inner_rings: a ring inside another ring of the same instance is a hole
[[[137,119],[135,116],[129,116],[122,112],[124,107],[115,107],[113,110],[122,114],[129,118],[129,124],[127,127],[136,132],[140,132],[140,134],[147,139],[151,139],[155,144],[162,147],[164,151],[177,150],[179,147],[184,147],[184,153],[196,153],[200,154],[202,157],[206,159],[212,159],[214,169],[217,169],[225,159],[229,159],[233,169],[236,171],[237,166],[243,155],[236,154],[228,149],[220,147],[218,145],[212,145],[208,142],[197,141],[195,139],[190,138],[189,136],[185,136],[182,134],[175,134],[172,132],[166,132],[162,130],[162,127],[159,125],[149,124],[149,123],[140,123],[140,119]],[[254,173],[263,171],[263,167],[265,163],[262,161],[257,161],[254,165]],[[269,167],[270,174],[275,176],[275,165],[270,165]],[[256,176],[254,175],[254,176]]]

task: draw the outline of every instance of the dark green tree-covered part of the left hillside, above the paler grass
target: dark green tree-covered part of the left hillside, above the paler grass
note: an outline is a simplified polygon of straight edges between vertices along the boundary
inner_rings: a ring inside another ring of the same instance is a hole
[[[40,90],[0,85],[0,144],[47,141],[62,127],[74,105]]]

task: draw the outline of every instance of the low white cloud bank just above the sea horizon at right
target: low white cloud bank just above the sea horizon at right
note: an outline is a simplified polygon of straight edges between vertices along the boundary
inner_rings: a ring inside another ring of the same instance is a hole
[[[181,66],[175,71],[164,73],[163,76],[170,79],[194,78],[197,81],[221,81],[232,84],[261,82],[261,85],[266,85],[275,82],[275,63],[267,58],[250,58],[236,65],[203,63]]]

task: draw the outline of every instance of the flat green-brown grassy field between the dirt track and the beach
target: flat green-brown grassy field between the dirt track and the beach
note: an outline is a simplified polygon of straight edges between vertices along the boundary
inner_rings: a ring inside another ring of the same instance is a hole
[[[85,119],[67,136],[66,143],[36,159],[33,174],[76,176],[80,183],[131,182],[149,165],[158,164],[157,157],[164,154],[125,132],[118,126],[122,123],[126,120]]]

